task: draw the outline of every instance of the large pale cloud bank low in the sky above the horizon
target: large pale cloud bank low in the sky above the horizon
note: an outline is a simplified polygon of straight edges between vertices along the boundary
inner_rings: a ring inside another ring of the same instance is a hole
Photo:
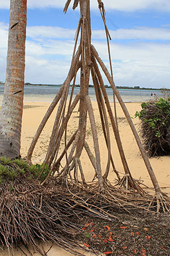
[[[106,43],[94,41],[94,45],[98,49],[100,57],[109,67]],[[116,84],[170,87],[169,48],[169,44],[159,43],[134,43],[129,46],[111,43]],[[33,49],[33,45],[27,45],[27,81],[62,83],[70,67],[73,42],[49,42],[46,44],[46,48],[41,48],[42,53],[40,50],[33,52],[31,49]],[[45,57],[45,53],[48,55],[47,57]],[[60,54],[59,59],[58,54]],[[31,61],[29,61],[30,59]],[[107,83],[106,79],[104,81]]]

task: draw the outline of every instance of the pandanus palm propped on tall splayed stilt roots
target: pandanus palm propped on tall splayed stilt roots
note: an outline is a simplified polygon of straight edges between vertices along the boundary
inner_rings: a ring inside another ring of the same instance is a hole
[[[125,193],[128,193],[127,192],[128,189],[130,191],[133,191],[132,193],[133,199],[134,197],[136,197],[137,193],[139,193],[140,199],[141,197],[145,197],[147,193],[145,193],[145,191],[141,189],[141,186],[139,185],[139,183],[137,183],[133,179],[129,171],[128,163],[126,161],[126,156],[124,154],[124,149],[122,147],[122,142],[120,139],[116,109],[115,109],[115,115],[114,115],[114,113],[112,113],[112,108],[108,100],[106,88],[104,87],[104,81],[100,73],[100,68],[101,68],[104,74],[106,75],[108,82],[112,87],[114,96],[117,97],[118,102],[120,103],[120,106],[124,111],[126,119],[128,120],[129,126],[131,127],[131,131],[133,132],[133,135],[135,137],[135,140],[137,142],[137,145],[143,157],[145,166],[147,167],[147,171],[149,172],[149,175],[151,177],[151,181],[155,189],[155,197],[151,199],[150,206],[157,205],[157,211],[159,211],[160,208],[162,208],[165,211],[169,211],[169,198],[165,197],[165,195],[161,193],[161,189],[159,187],[159,184],[157,182],[153,169],[149,163],[149,159],[145,154],[143,145],[141,144],[141,141],[139,140],[139,137],[137,135],[137,131],[135,130],[133,122],[131,121],[131,117],[128,113],[128,109],[126,108],[124,101],[122,101],[122,98],[120,97],[120,93],[118,89],[116,89],[116,86],[114,84],[114,79],[112,75],[112,63],[111,63],[111,57],[110,57],[110,46],[109,46],[110,34],[106,26],[104,4],[102,3],[101,0],[97,0],[97,1],[98,1],[100,13],[102,15],[102,19],[104,21],[104,27],[106,30],[106,39],[108,42],[108,53],[109,53],[109,59],[110,59],[111,75],[108,69],[106,68],[106,66],[104,65],[104,63],[102,62],[102,59],[100,59],[98,52],[96,51],[94,46],[91,44],[90,0],[80,0],[80,1],[75,0],[73,9],[75,9],[78,3],[80,3],[80,21],[78,23],[78,27],[76,30],[76,37],[75,37],[76,40],[75,40],[74,51],[72,55],[72,63],[71,63],[70,71],[68,73],[68,77],[66,78],[66,81],[63,83],[62,87],[60,88],[58,95],[56,95],[54,101],[52,101],[48,111],[46,112],[46,115],[42,119],[41,125],[37,130],[37,133],[33,139],[33,142],[31,143],[31,147],[27,155],[27,161],[31,161],[31,155],[33,153],[33,149],[35,148],[37,140],[39,139],[41,131],[44,125],[46,124],[48,117],[50,117],[50,114],[52,113],[54,107],[58,102],[60,102],[58,105],[57,113],[56,113],[56,119],[54,121],[54,127],[52,129],[52,135],[50,137],[50,143],[48,145],[48,150],[46,152],[46,157],[44,159],[44,163],[46,163],[48,166],[51,167],[51,172],[49,173],[49,175],[52,173],[53,174],[56,173],[56,179],[58,179],[59,181],[61,179],[66,181],[69,180],[74,184],[81,183],[82,185],[87,186],[88,184],[86,183],[86,179],[84,177],[82,161],[80,159],[82,155],[82,151],[85,150],[92,163],[92,167],[94,168],[95,177],[98,178],[98,183],[97,183],[98,190],[101,193],[103,192],[107,193],[107,191],[109,191],[108,200],[110,200],[110,198],[112,197],[113,201],[115,201],[116,193],[118,193],[118,190],[116,190],[118,186],[119,186],[118,189],[122,189],[122,187],[126,187]],[[66,1],[66,5],[64,7],[65,13],[68,9],[68,6],[70,5],[70,2],[71,0]],[[77,47],[79,35],[80,35],[80,45]],[[78,72],[78,69],[80,69],[80,93],[78,93],[74,98],[74,100],[72,100],[74,85],[76,81],[76,74]],[[108,161],[107,161],[105,171],[103,171],[101,168],[98,133],[96,130],[96,122],[94,117],[94,111],[92,108],[92,103],[88,95],[88,85],[89,85],[90,75],[92,75],[92,81],[94,83],[96,100],[98,102],[98,110],[100,113],[100,119],[101,119],[102,129],[104,133],[104,140],[106,141],[106,147],[108,149]],[[72,92],[70,95],[70,99],[68,101],[68,90],[69,90],[70,82],[72,81],[72,79],[73,79]],[[66,107],[67,101],[68,101],[68,108]],[[78,127],[74,132],[74,134],[72,135],[72,137],[70,138],[70,140],[67,141],[67,137],[66,137],[67,124],[72,115],[72,111],[74,110],[74,108],[78,103],[79,103],[79,111],[80,111]],[[116,104],[114,105],[116,106]],[[90,127],[92,130],[92,139],[94,143],[94,155],[92,154],[92,151],[86,141],[86,123],[87,123],[88,117],[90,121]],[[120,158],[121,158],[122,165],[124,167],[124,172],[125,172],[124,177],[122,178],[122,180],[120,180],[116,189],[115,187],[110,185],[110,183],[108,182],[108,173],[110,171],[111,165],[114,171],[116,171],[114,167],[114,160],[113,160],[114,157],[112,157],[112,153],[111,153],[110,129],[108,125],[109,120],[112,125],[112,130],[114,131],[114,137],[118,145],[118,151],[120,153]],[[61,143],[62,138],[64,138],[65,145],[62,153],[60,153],[59,149],[62,144]],[[64,158],[64,156],[66,157],[66,161],[64,163],[64,167],[60,169],[60,166],[62,166],[61,161]],[[46,177],[46,179],[48,179],[48,177]],[[44,184],[45,181],[43,181],[42,184]],[[112,191],[112,193],[110,193],[110,191]],[[121,196],[122,195],[123,194],[121,194]],[[148,199],[148,195],[146,197]],[[118,198],[116,200],[117,202],[119,201]],[[122,204],[122,201],[125,203],[125,201],[127,200],[128,200],[127,197],[124,198],[124,201],[121,198],[119,201],[120,205]]]

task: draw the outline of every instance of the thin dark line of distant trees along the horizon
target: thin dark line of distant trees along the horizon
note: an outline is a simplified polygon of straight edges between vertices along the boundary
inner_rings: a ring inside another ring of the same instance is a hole
[[[4,85],[5,83],[0,81],[0,85]],[[60,87],[62,84],[54,85],[54,84],[43,84],[43,83],[25,83],[25,85],[33,85],[33,86],[53,86],[53,87]],[[70,85],[72,87],[72,85]],[[80,85],[75,85],[75,87],[80,87]],[[89,85],[90,88],[94,88],[94,85]],[[106,88],[110,88],[110,85],[105,85]],[[133,90],[153,90],[153,91],[162,91],[167,90],[170,91],[170,89],[167,88],[146,88],[146,87],[139,87],[139,86],[116,86],[117,89],[133,89]]]

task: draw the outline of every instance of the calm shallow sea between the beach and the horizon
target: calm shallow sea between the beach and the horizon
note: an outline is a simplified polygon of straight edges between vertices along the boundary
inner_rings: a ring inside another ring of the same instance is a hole
[[[56,93],[59,91],[59,87],[52,86],[35,86],[26,85],[25,86],[25,102],[31,101],[45,101],[51,102],[54,99]],[[4,85],[0,85],[0,103],[3,97]],[[71,91],[71,89],[70,89]],[[69,93],[70,93],[69,91]],[[112,89],[106,89],[110,101],[113,101]],[[161,91],[153,90],[132,90],[132,89],[119,89],[120,95],[124,102],[136,102],[136,101],[149,101],[149,99],[154,98],[154,93],[157,97],[161,97]],[[79,88],[74,89],[74,95],[79,92]],[[152,95],[151,95],[152,94]],[[89,89],[89,95],[92,101],[96,101],[95,91],[93,88]]]

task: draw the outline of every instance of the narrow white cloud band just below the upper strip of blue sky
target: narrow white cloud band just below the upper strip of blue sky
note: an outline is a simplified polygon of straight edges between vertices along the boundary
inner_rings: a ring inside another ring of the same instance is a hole
[[[74,39],[76,30],[61,27],[34,26],[27,27],[27,37],[32,39]],[[169,28],[135,27],[133,29],[117,29],[110,31],[112,39],[170,40]],[[104,30],[92,31],[93,39],[105,39]]]

